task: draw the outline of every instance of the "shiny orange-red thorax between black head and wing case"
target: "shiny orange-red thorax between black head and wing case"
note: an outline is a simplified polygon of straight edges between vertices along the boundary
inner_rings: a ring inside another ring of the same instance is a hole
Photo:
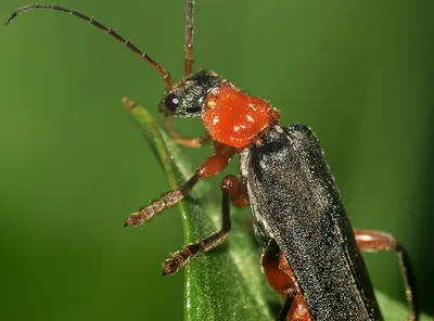
[[[208,92],[201,116],[215,141],[233,147],[250,145],[279,118],[266,100],[250,95],[230,82]]]

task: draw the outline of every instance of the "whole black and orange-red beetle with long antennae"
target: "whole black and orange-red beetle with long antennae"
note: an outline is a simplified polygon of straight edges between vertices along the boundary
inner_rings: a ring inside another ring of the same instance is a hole
[[[200,147],[213,140],[214,153],[179,190],[163,194],[133,213],[125,226],[139,227],[155,214],[180,203],[201,179],[222,171],[240,154],[241,176],[221,180],[222,227],[212,235],[184,245],[163,262],[163,275],[175,274],[201,251],[220,244],[231,228],[230,204],[251,206],[255,235],[263,247],[261,268],[270,285],[285,297],[277,320],[383,320],[360,251],[395,251],[403,270],[409,320],[418,320],[414,281],[409,258],[397,240],[385,232],[353,230],[334,178],[315,133],[305,125],[282,126],[279,112],[261,98],[243,92],[212,70],[192,74],[193,0],[187,0],[186,78],[171,77],[148,53],[113,29],[75,10],[55,4],[31,9],[71,13],[106,31],[140,55],[162,76],[166,93],[159,112],[180,144]],[[127,98],[124,104],[137,106]],[[186,138],[174,130],[174,117],[201,117],[206,133]]]

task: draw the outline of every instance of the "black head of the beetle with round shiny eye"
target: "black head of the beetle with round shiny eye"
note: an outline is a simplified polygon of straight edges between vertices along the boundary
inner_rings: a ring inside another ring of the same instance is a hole
[[[179,117],[200,116],[206,94],[222,80],[212,70],[200,70],[174,86],[159,103],[159,112]]]

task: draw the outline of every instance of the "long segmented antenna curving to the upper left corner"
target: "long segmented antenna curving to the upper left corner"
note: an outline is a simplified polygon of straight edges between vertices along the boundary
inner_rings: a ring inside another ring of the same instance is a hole
[[[82,13],[79,13],[75,10],[71,10],[71,9],[66,9],[56,4],[39,4],[39,3],[35,3],[35,4],[30,4],[30,5],[26,5],[26,7],[22,7],[20,9],[17,9],[14,13],[12,13],[12,15],[7,20],[5,24],[9,25],[17,15],[18,13],[31,10],[31,9],[52,9],[52,10],[58,10],[61,12],[66,12],[66,13],[71,13],[75,16],[78,16],[79,18],[89,22],[90,24],[92,24],[93,26],[104,30],[106,34],[111,35],[113,38],[115,38],[117,41],[120,41],[125,44],[125,47],[127,47],[129,50],[131,50],[133,53],[140,55],[144,61],[146,61],[152,67],[154,67],[158,74],[162,76],[164,84],[166,85],[166,89],[167,91],[171,90],[171,77],[170,74],[167,73],[163,66],[161,64],[158,64],[156,61],[154,61],[151,56],[148,55],[148,53],[140,51],[135,44],[132,44],[129,40],[126,40],[125,38],[123,38],[120,35],[118,35],[115,30],[104,26],[103,24],[101,24],[100,22],[95,21],[92,17],[89,17]]]

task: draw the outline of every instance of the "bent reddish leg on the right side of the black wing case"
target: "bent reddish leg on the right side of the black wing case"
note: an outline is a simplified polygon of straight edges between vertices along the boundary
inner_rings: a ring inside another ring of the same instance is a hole
[[[391,234],[382,231],[354,230],[357,245],[365,252],[395,251],[399,258],[399,265],[406,286],[407,301],[409,306],[409,321],[419,319],[419,308],[416,297],[416,283],[410,269],[410,259],[404,246]]]

